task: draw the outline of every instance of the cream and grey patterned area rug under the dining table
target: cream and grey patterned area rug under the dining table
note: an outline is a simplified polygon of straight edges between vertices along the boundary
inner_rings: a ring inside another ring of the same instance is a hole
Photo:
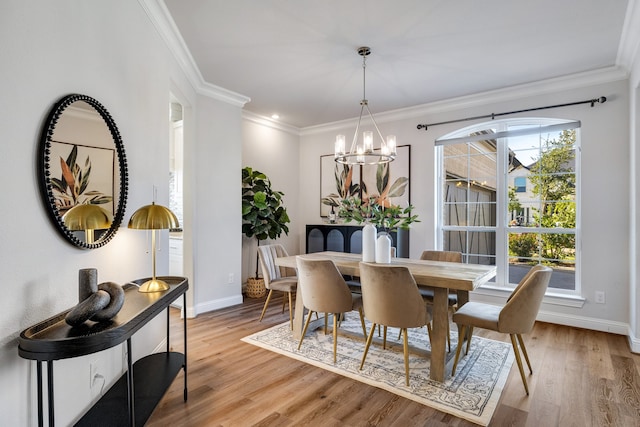
[[[367,323],[367,331],[370,327],[371,324]],[[426,328],[411,329],[410,385],[406,386],[402,339],[398,338],[398,329],[389,328],[387,347],[384,350],[382,338],[377,334],[374,337],[362,370],[359,367],[365,340],[360,319],[353,312],[348,313],[346,320],[340,325],[335,364],[330,328],[327,335],[323,328],[307,331],[300,350],[297,349],[298,341],[293,338],[289,329],[289,322],[247,336],[242,341],[387,390],[473,423],[485,426],[489,424],[513,363],[510,344],[474,336],[469,354],[463,357],[463,353],[460,357],[455,377],[451,377],[449,367],[446,380],[440,383],[429,379],[430,345]],[[455,353],[456,345],[457,334],[452,330],[451,355]]]

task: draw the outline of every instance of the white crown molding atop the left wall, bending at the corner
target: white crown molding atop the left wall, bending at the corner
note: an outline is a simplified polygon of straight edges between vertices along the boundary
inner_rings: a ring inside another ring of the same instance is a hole
[[[203,96],[244,107],[251,98],[205,82],[187,44],[162,0],[138,0],[194,90]]]

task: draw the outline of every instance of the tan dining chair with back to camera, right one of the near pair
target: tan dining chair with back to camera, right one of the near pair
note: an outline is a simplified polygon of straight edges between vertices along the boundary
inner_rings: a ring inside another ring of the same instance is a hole
[[[407,329],[427,326],[431,316],[408,268],[393,264],[360,263],[360,283],[365,317],[373,325],[367,336],[360,369],[364,366],[376,325],[400,328],[404,349],[405,382],[409,385],[409,342]]]

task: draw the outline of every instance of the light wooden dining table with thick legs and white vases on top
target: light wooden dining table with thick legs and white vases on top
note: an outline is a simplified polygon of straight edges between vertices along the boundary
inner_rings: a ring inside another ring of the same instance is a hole
[[[307,259],[330,259],[344,275],[360,276],[359,263],[362,255],[344,252],[315,252],[305,255],[294,255],[276,258],[278,266],[296,268],[296,257]],[[433,327],[431,332],[431,368],[432,380],[444,381],[447,365],[446,340],[449,322],[448,296],[450,291],[456,291],[458,305],[469,301],[469,291],[488,282],[496,274],[496,267],[492,265],[462,264],[443,261],[425,261],[409,258],[392,258],[392,265],[402,265],[409,269],[418,287],[432,289],[433,298]],[[365,313],[366,317],[366,313]],[[293,318],[294,337],[300,339],[303,329],[304,302],[302,293],[296,292],[296,307]],[[318,325],[315,325],[316,327]],[[459,340],[462,342],[462,339]]]

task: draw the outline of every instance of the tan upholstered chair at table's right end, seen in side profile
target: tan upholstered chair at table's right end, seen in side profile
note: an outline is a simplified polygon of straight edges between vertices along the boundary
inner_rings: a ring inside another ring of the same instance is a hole
[[[471,336],[473,328],[483,328],[492,331],[503,332],[511,337],[511,345],[516,356],[520,377],[524,384],[524,390],[529,395],[529,386],[527,378],[522,368],[522,359],[518,351],[518,342],[522,349],[529,373],[533,374],[529,355],[522,340],[522,334],[531,332],[533,324],[536,321],[542,298],[544,297],[549,279],[551,278],[552,269],[543,265],[536,265],[522,278],[518,286],[513,290],[504,307],[484,304],[471,301],[460,307],[453,315],[453,321],[460,326],[460,336],[465,336],[466,328],[469,328],[469,339],[465,354],[469,352],[471,345]],[[516,338],[517,341],[516,342]],[[451,375],[455,375],[462,348],[462,339],[458,340],[458,348],[456,349],[456,357],[453,362]]]

